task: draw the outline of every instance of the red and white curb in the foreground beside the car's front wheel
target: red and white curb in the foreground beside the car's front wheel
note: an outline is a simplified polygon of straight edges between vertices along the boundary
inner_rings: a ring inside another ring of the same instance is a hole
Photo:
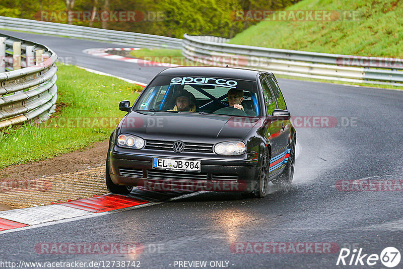
[[[2,211],[0,212],[0,234],[154,206],[204,192],[161,193],[141,188],[133,190],[131,194],[136,195],[136,198],[108,193],[55,205]]]

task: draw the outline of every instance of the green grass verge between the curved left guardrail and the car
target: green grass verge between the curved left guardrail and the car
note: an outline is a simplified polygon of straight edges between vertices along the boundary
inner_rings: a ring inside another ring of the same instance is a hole
[[[125,114],[118,109],[119,101],[133,102],[142,90],[116,78],[61,64],[56,84],[57,110],[50,119],[0,130],[0,168],[82,150],[108,139],[114,124]]]

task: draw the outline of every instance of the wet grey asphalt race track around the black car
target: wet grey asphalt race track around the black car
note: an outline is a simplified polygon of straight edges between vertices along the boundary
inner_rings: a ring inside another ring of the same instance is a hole
[[[80,66],[131,80],[147,83],[161,70],[82,53],[86,48],[119,45],[0,32],[46,44],[59,57],[73,56]],[[403,179],[403,92],[284,79],[279,83],[294,117],[329,116],[338,124],[346,118],[355,121],[353,126],[297,126],[301,153],[291,188],[272,186],[272,194],[264,199],[204,192],[151,207],[0,234],[0,260],[136,259],[142,268],[175,268],[175,260],[225,260],[230,268],[337,267],[339,251],[239,254],[230,250],[234,242],[354,244],[369,254],[394,246],[403,254],[403,192],[334,187],[345,179]],[[38,254],[34,246],[42,242],[138,242],[145,251]],[[154,244],[161,244],[160,251],[152,251]],[[384,266],[378,261],[372,267]]]

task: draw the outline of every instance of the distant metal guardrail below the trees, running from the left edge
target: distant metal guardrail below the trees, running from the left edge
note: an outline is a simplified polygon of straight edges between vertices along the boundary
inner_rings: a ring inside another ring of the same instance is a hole
[[[50,35],[66,35],[94,41],[148,48],[181,49],[182,40],[173,37],[115,31],[62,23],[43,22],[0,16],[0,28]]]

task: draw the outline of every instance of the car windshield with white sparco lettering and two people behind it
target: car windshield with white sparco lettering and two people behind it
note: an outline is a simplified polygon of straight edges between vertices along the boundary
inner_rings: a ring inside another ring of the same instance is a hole
[[[229,78],[158,76],[134,110],[259,115],[256,82]]]

